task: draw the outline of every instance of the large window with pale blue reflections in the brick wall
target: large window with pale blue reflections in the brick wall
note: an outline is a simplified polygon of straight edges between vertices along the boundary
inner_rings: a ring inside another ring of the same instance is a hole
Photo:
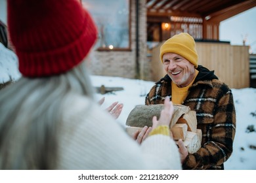
[[[82,0],[98,27],[99,51],[130,49],[130,1]]]

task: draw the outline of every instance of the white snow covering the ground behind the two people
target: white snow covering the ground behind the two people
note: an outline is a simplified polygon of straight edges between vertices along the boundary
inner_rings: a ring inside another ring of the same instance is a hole
[[[0,84],[20,78],[16,55],[0,43]],[[144,105],[146,93],[154,82],[111,76],[91,76],[95,87],[122,87],[118,92],[95,94],[97,100],[105,97],[102,108],[114,101],[123,103],[123,111],[117,122],[125,125],[129,112],[136,105]],[[225,169],[256,169],[256,88],[232,89],[236,107],[236,136],[232,156],[224,163]]]

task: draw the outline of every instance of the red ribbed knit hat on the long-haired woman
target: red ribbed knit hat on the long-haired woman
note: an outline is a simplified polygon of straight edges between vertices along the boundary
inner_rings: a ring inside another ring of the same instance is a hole
[[[96,26],[78,0],[8,0],[8,28],[20,73],[58,75],[83,61]]]

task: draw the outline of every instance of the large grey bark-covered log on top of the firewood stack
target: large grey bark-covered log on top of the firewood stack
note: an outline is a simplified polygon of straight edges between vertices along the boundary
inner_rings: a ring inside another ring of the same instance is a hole
[[[186,114],[190,111],[190,108],[184,105],[173,105],[174,112],[173,118],[171,118],[170,127],[173,127],[181,118],[182,114]],[[127,126],[133,127],[148,127],[152,126],[152,118],[156,116],[160,117],[161,110],[163,110],[163,104],[158,105],[137,105],[133,110],[131,110],[129,116],[126,120]]]

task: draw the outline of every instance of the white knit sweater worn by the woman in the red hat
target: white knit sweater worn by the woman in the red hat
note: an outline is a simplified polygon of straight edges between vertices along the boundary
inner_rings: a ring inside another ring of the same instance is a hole
[[[78,97],[67,106],[58,132],[58,169],[181,169],[170,137],[151,135],[139,145],[89,99]]]

